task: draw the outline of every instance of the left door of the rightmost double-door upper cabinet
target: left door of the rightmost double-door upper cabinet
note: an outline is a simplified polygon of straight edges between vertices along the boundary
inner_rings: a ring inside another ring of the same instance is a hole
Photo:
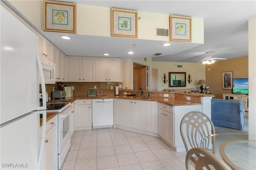
[[[95,58],[95,81],[107,82],[108,58]]]

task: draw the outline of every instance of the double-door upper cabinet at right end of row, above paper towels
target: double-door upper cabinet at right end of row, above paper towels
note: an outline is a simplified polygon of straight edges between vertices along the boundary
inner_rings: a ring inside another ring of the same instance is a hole
[[[120,58],[96,58],[95,59],[96,82],[120,81]]]

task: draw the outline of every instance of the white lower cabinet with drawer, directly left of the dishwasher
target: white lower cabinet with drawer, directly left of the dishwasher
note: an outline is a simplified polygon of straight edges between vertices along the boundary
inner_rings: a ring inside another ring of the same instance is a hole
[[[76,129],[92,129],[92,100],[77,100]]]

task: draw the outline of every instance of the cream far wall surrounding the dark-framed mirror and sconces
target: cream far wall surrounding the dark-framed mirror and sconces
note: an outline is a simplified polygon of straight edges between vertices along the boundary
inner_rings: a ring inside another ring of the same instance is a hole
[[[182,68],[178,68],[177,65],[182,65]],[[195,88],[199,89],[200,85],[197,85],[198,81],[205,80],[205,65],[202,63],[185,63],[185,62],[152,62],[152,68],[158,69],[158,90],[164,90],[169,87],[169,72],[186,72],[186,87],[177,88]],[[164,74],[167,75],[166,84],[162,81]],[[188,83],[188,74],[190,74],[191,83]],[[172,88],[170,88],[172,89]]]

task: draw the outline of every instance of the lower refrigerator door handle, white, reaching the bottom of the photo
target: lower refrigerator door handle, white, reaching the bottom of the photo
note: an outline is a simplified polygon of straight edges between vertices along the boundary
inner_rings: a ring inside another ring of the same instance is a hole
[[[45,132],[46,132],[46,110],[37,111],[36,113],[43,115],[43,117],[42,117],[43,118],[42,138],[41,138],[40,151],[39,151],[38,160],[37,160],[37,169],[40,170],[40,162],[42,160],[42,154],[43,154],[43,149],[44,149],[44,141],[45,141]]]

